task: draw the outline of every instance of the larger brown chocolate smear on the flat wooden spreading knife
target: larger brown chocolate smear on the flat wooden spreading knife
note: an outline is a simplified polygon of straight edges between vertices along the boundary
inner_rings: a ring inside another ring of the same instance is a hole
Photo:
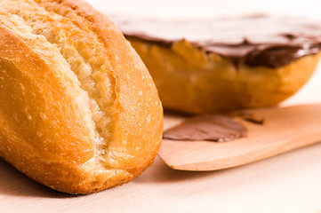
[[[245,126],[229,116],[211,114],[186,119],[170,130],[165,130],[163,138],[171,140],[223,142],[247,135]]]

